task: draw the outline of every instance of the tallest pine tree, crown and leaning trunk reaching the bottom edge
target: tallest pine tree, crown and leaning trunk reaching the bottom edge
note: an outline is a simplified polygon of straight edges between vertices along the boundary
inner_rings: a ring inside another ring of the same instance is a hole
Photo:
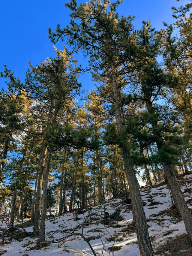
[[[121,1],[115,3],[104,1],[104,3],[101,3],[101,1],[98,0],[77,6],[76,1],[73,0],[69,4],[66,4],[72,11],[70,14],[72,18],[70,26],[67,26],[64,30],[60,29],[60,26],[58,26],[56,33],[52,33],[50,30],[49,33],[52,41],[55,41],[55,37],[62,38],[63,35],[66,35],[70,45],[81,48],[85,54],[87,54],[87,52],[89,53],[91,58],[90,65],[92,65],[92,68],[94,68],[96,72],[98,70],[105,70],[107,73],[109,80],[107,89],[110,90],[110,93],[113,95],[117,130],[118,134],[121,136],[119,146],[122,151],[125,173],[130,188],[133,217],[137,228],[140,254],[150,256],[154,255],[154,253],[149,239],[137,179],[126,146],[127,136],[124,133],[123,117],[119,106],[118,91],[121,84],[121,82],[119,82],[119,68],[125,63],[122,62],[122,59],[124,59],[122,50],[124,44],[130,38],[131,21],[133,19],[132,17],[118,18],[116,7],[119,3],[121,3]],[[110,11],[107,11],[107,8],[110,9]],[[76,19],[80,20],[80,23],[76,23]],[[102,77],[103,80],[104,74],[100,73],[100,77]]]

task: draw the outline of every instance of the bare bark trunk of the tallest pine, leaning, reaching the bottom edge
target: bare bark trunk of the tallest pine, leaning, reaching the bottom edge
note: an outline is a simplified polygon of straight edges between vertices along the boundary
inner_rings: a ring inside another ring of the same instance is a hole
[[[116,117],[116,125],[117,131],[119,134],[123,134],[123,125],[121,119],[121,112],[119,110],[119,98],[118,98],[118,91],[117,91],[117,80],[116,80],[116,68],[112,63],[111,66],[111,73],[112,73],[112,82],[113,82],[113,99],[114,99],[114,110],[115,110],[115,117]],[[129,155],[129,151],[126,148],[126,145],[123,143],[119,145],[122,152],[125,173],[127,176],[128,184],[129,184],[129,191],[133,209],[133,217],[136,223],[136,230],[137,230],[137,240],[140,249],[140,254],[142,256],[154,256],[153,248],[151,245],[151,241],[149,238],[149,232],[147,229],[147,222],[146,216],[143,209],[143,201],[141,199],[140,190],[137,185],[137,179],[134,173],[134,168],[131,163],[131,158]]]

